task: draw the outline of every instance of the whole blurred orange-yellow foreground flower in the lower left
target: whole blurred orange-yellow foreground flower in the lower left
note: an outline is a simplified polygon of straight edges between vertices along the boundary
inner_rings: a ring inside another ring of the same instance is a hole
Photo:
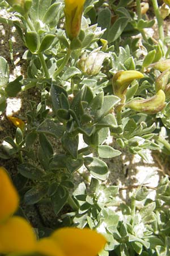
[[[90,229],[62,228],[52,236],[36,241],[29,223],[10,217],[18,208],[19,198],[5,168],[0,167],[0,254],[40,253],[46,256],[96,256],[105,238]]]

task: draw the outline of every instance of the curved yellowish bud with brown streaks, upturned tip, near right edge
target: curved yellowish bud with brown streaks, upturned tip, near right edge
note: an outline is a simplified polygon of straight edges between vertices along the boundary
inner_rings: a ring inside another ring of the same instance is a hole
[[[148,99],[131,100],[125,108],[133,109],[137,112],[145,114],[155,114],[163,110],[165,106],[165,93],[163,90],[159,90],[155,96]]]

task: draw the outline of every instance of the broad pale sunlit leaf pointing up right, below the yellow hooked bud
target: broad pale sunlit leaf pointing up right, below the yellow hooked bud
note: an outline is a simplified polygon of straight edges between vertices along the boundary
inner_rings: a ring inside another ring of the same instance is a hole
[[[99,121],[101,118],[107,115],[109,111],[113,108],[113,106],[116,105],[119,101],[120,98],[116,96],[104,96],[104,101],[101,109],[96,111],[95,121]]]

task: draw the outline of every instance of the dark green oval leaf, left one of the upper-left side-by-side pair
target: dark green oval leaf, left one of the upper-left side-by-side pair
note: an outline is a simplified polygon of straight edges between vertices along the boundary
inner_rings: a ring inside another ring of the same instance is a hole
[[[39,38],[35,31],[28,31],[25,34],[25,43],[31,52],[36,52],[38,47]]]

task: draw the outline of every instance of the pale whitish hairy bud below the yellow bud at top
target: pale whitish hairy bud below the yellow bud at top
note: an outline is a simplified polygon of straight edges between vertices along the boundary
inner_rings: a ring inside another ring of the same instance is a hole
[[[100,48],[95,49],[89,55],[84,52],[79,60],[79,69],[89,76],[99,73],[105,58],[110,57],[109,53],[101,52],[99,49]]]

